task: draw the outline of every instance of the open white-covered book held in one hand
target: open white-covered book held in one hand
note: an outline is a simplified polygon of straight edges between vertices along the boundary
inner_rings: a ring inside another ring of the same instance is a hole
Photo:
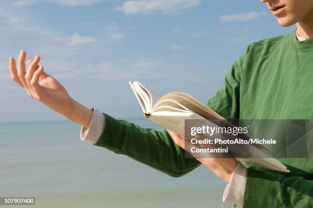
[[[170,92],[161,96],[152,90],[148,90],[139,82],[129,82],[129,84],[140,103],[144,116],[182,137],[185,137],[185,119],[225,120],[225,118],[189,94]],[[266,147],[262,145],[250,145],[249,151],[252,151],[255,157],[236,158],[236,160],[242,165],[254,165],[289,172],[286,166],[275,158],[271,158],[264,149]]]

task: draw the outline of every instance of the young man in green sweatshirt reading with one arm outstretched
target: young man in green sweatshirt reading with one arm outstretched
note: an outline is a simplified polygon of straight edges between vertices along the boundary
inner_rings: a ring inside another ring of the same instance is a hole
[[[250,44],[227,74],[225,86],[207,106],[226,119],[313,119],[313,1],[261,2],[266,2],[280,25],[296,23],[296,31]],[[82,140],[126,154],[174,177],[204,164],[228,184],[225,202],[243,207],[313,207],[313,160],[279,159],[291,171],[283,174],[246,168],[231,158],[187,159],[184,138],[143,129],[81,106],[38,66],[39,56],[27,62],[27,72],[25,58],[25,51],[21,51],[17,69],[10,58],[12,79],[29,96],[81,124]]]

